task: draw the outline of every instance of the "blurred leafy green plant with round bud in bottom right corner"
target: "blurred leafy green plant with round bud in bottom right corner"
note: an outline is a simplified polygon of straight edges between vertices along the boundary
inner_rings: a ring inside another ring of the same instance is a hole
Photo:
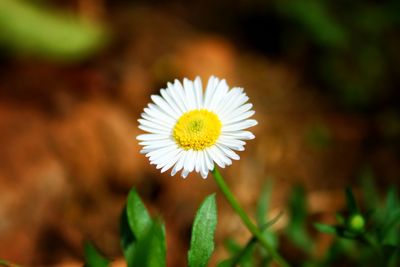
[[[337,214],[337,225],[316,223],[315,227],[353,241],[357,246],[351,249],[357,258],[353,266],[399,266],[400,201],[396,189],[389,189],[383,205],[375,202],[378,197],[370,185],[365,186],[365,192],[369,193],[365,195],[365,212],[360,210],[351,189],[346,189],[347,215]]]

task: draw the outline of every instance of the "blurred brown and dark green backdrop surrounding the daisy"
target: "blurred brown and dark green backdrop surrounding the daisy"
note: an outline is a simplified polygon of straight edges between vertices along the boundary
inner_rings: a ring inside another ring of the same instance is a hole
[[[249,211],[271,179],[273,210],[302,184],[320,216],[365,170],[398,186],[399,5],[341,2],[1,1],[0,258],[79,266],[84,240],[120,258],[135,186],[166,222],[169,266],[185,266],[195,210],[217,188],[160,174],[135,139],[150,95],[175,78],[217,75],[249,95],[256,139],[223,170]],[[212,265],[226,236],[249,237],[218,205]]]

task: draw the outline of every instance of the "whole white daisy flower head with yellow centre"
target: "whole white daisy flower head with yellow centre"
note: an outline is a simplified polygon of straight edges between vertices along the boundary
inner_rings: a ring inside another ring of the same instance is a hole
[[[139,128],[148,132],[137,137],[150,163],[171,175],[182,177],[196,171],[205,179],[214,164],[221,168],[238,160],[254,135],[245,129],[257,124],[255,112],[242,88],[229,89],[224,79],[211,76],[203,93],[201,79],[168,83],[161,96],[152,95],[141,115]]]

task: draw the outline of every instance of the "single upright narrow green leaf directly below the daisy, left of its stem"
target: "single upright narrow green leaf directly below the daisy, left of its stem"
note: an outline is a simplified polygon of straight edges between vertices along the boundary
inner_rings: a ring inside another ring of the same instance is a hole
[[[215,194],[201,204],[194,219],[188,253],[189,267],[206,266],[214,251],[214,233],[217,225]]]

